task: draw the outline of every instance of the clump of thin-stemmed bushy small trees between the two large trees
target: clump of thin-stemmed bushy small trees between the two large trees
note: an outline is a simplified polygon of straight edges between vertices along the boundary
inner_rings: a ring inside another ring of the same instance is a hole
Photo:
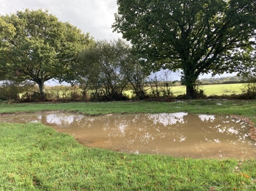
[[[77,81],[94,90],[94,97],[122,100],[123,90],[131,83],[134,93],[145,98],[144,72],[140,60],[132,54],[131,47],[123,40],[100,40],[82,51],[83,62],[77,71]]]

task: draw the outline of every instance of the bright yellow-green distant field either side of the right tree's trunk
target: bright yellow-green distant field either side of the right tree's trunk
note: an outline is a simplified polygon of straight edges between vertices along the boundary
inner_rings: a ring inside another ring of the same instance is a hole
[[[209,84],[201,85],[199,89],[204,90],[204,94],[209,95],[232,95],[241,94],[245,84]],[[186,93],[186,87],[174,86],[171,87],[174,95],[183,95]]]

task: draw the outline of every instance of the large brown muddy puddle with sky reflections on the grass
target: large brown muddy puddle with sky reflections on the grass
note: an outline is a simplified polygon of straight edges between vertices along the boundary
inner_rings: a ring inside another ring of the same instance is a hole
[[[89,147],[136,154],[193,158],[256,158],[255,141],[242,120],[185,112],[87,117],[49,113],[1,117],[0,122],[44,123]]]

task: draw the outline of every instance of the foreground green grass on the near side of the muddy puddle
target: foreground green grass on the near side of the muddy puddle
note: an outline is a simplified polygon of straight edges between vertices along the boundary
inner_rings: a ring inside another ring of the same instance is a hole
[[[1,123],[0,190],[255,190],[255,160],[86,148],[38,123]]]

